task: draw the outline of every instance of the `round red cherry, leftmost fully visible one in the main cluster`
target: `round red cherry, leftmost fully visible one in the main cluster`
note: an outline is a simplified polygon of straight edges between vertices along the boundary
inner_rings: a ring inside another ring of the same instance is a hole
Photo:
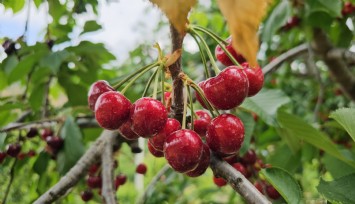
[[[95,117],[99,125],[108,130],[116,130],[129,118],[131,102],[120,92],[108,91],[96,101]]]

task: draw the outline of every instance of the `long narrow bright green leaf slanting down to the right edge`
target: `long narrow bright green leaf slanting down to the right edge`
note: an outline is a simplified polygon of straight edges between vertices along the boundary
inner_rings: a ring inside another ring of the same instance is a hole
[[[279,111],[277,120],[282,128],[286,129],[292,137],[297,137],[319,149],[324,150],[330,155],[355,166],[355,162],[346,158],[333,142],[322,132],[315,129],[301,118],[284,111]]]

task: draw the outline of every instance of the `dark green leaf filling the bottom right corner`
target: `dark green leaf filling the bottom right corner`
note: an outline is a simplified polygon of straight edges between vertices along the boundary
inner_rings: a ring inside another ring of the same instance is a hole
[[[331,182],[320,180],[317,190],[327,200],[334,203],[355,203],[355,174],[350,174]]]

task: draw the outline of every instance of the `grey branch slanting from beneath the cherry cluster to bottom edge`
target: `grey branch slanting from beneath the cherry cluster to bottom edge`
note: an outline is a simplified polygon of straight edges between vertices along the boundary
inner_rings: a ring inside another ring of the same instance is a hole
[[[237,191],[248,203],[271,203],[261,194],[250,181],[227,162],[211,154],[210,167],[215,176],[223,177],[232,188]]]

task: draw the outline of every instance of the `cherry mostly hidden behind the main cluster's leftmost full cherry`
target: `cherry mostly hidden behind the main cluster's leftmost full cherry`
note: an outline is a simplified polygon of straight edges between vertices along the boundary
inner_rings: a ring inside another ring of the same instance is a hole
[[[89,108],[92,111],[95,111],[95,104],[99,96],[108,91],[115,91],[115,89],[113,89],[105,80],[97,81],[90,86],[88,93],[88,103]]]

